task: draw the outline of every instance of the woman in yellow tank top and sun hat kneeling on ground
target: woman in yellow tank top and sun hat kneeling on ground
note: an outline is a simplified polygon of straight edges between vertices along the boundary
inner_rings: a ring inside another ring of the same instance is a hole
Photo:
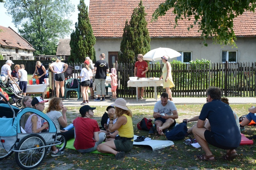
[[[126,107],[126,101],[123,98],[116,99],[112,105],[115,106],[115,114],[118,119],[113,124],[114,117],[110,117],[109,132],[118,130],[119,136],[116,140],[101,143],[98,145],[97,150],[102,153],[112,153],[115,155],[115,159],[120,159],[133,146],[132,112]]]

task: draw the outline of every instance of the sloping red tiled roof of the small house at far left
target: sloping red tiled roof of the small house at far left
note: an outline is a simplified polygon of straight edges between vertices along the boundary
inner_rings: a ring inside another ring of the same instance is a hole
[[[20,48],[35,51],[31,44],[22,36],[16,33],[11,27],[0,26],[0,45],[3,47]]]

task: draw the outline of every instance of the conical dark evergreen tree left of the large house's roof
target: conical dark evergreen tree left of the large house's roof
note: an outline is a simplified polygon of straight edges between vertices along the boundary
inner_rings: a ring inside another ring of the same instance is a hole
[[[94,49],[96,38],[91,28],[88,7],[85,5],[84,0],[80,0],[77,7],[80,13],[78,14],[78,22],[75,23],[75,31],[73,30],[70,35],[71,51],[69,62],[84,62],[86,56],[89,56],[92,61],[96,62]]]

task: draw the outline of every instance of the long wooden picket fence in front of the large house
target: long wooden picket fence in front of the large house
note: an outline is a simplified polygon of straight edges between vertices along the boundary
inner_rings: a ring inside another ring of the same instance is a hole
[[[69,63],[70,66],[81,66],[81,63]],[[117,70],[117,95],[122,98],[136,98],[136,88],[127,87],[129,77],[134,77],[134,64],[115,63]],[[159,78],[163,64],[149,64],[146,77]],[[211,64],[171,64],[172,78],[175,87],[171,88],[173,97],[206,97],[206,90],[210,86],[217,86],[223,90],[226,97],[255,97],[256,96],[256,62],[255,63],[211,63]],[[110,69],[111,70],[111,69]],[[73,78],[80,74],[80,70],[73,70]],[[50,74],[50,77],[51,74]],[[53,77],[51,78],[54,84]],[[54,85],[50,86],[55,95]],[[157,87],[157,95],[165,92],[161,86]],[[71,91],[71,96],[76,92]],[[154,98],[154,87],[146,87],[145,98]]]

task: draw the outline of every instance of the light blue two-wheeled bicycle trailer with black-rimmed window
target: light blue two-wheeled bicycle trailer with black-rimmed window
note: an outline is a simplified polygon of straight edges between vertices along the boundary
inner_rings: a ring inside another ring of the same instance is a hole
[[[1,93],[0,96],[7,102]],[[15,161],[20,168],[33,169],[42,163],[51,146],[62,144],[56,140],[56,126],[43,112],[29,107],[19,109],[8,102],[0,103],[0,110],[0,160],[15,152]],[[30,114],[40,116],[49,127],[41,133],[26,133],[24,127]]]

